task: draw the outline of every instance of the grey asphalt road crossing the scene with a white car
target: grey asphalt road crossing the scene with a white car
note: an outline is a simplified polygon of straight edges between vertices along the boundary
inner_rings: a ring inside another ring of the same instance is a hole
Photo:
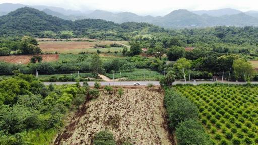
[[[122,81],[122,82],[100,82],[101,86],[111,85],[111,86],[132,86],[134,83],[139,82],[142,86],[147,86],[149,83],[153,85],[160,85],[159,81]],[[75,84],[76,82],[43,82],[45,85],[49,84],[56,84],[56,85],[63,85],[63,84]],[[90,86],[94,86],[95,82],[88,82]],[[215,81],[196,81],[196,82],[186,82],[187,84],[206,84],[206,83],[216,83]],[[219,83],[228,83],[228,84],[246,84],[245,82],[229,82],[223,81]],[[80,82],[82,85],[83,82]],[[184,84],[184,81],[175,81],[173,84]],[[252,84],[258,84],[258,82],[252,82]]]

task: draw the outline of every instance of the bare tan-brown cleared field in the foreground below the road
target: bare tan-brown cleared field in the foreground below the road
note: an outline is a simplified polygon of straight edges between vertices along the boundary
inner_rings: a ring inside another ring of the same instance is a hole
[[[91,144],[94,134],[105,129],[117,144],[171,144],[161,88],[125,88],[121,97],[101,90],[77,114],[54,144]]]

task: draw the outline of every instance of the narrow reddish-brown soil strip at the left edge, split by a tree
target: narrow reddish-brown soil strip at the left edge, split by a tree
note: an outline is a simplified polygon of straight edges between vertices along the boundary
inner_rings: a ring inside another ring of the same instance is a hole
[[[14,63],[14,64],[28,64],[30,58],[34,55],[14,55],[14,56],[0,56],[0,61]],[[43,58],[43,62],[58,61],[59,55],[57,54],[45,54],[40,55]]]

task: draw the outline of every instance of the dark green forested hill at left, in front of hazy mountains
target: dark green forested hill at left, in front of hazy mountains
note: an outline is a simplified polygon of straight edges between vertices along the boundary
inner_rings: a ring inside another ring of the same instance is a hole
[[[46,32],[54,32],[56,34],[62,31],[72,31],[73,34],[89,35],[92,32],[112,31],[114,35],[118,32],[134,32],[148,29],[152,32],[164,31],[148,23],[127,22],[116,24],[111,21],[100,19],[82,19],[77,21],[64,20],[52,15],[48,15],[43,11],[34,8],[24,7],[10,12],[0,17],[0,35],[1,36],[23,36],[33,35],[40,37]],[[95,34],[96,35],[96,34]]]

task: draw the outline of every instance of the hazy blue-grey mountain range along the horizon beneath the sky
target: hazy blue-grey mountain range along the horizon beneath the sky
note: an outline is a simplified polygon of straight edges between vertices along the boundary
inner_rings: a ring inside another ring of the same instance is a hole
[[[82,13],[80,11],[66,10],[58,7],[49,6],[28,6],[23,4],[0,4],[0,15],[5,15],[21,7],[32,7],[46,14],[56,16],[66,20],[80,19],[102,19],[113,21],[115,23],[124,22],[146,22],[165,28],[185,28],[185,27],[212,27],[212,26],[258,26],[258,11],[242,12],[235,9],[201,10],[188,11],[179,9],[172,11],[165,16],[140,16],[131,12],[113,13],[103,10],[95,10],[91,13]]]

